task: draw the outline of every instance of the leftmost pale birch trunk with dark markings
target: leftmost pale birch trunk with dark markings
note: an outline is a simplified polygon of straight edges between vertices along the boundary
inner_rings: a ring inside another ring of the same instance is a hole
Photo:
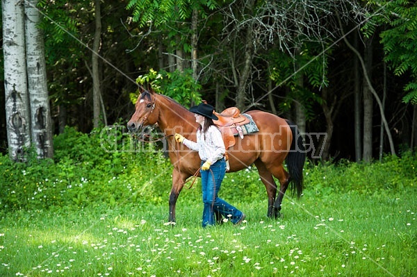
[[[24,6],[2,0],[4,91],[10,159],[22,162],[31,146],[31,122],[26,81]]]

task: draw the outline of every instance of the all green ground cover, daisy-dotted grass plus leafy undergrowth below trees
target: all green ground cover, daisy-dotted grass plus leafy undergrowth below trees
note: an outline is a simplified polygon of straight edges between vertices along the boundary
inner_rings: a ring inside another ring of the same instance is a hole
[[[67,128],[54,160],[0,154],[0,277],[417,276],[416,152],[307,161],[302,199],[287,192],[277,220],[256,169],[227,174],[220,196],[246,221],[204,229],[199,182],[167,225],[170,162],[104,151],[120,136],[101,135]]]

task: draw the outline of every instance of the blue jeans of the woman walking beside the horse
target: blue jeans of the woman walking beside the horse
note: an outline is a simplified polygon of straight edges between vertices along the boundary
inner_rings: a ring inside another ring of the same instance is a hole
[[[220,185],[222,185],[224,174],[226,174],[226,161],[224,158],[213,163],[208,170],[203,171],[200,169],[200,174],[202,176],[204,203],[202,226],[206,227],[207,225],[215,224],[214,211],[220,212],[223,217],[236,224],[242,218],[243,213],[218,197]]]

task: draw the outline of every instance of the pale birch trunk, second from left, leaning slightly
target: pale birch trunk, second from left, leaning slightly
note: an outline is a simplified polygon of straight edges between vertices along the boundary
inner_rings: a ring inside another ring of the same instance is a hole
[[[51,109],[49,107],[47,69],[42,31],[38,28],[38,0],[24,1],[26,72],[31,106],[31,137],[38,158],[54,158]]]

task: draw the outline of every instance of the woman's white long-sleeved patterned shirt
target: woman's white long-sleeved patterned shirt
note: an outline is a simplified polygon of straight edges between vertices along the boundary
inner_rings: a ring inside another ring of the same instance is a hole
[[[200,129],[197,130],[197,142],[192,142],[191,140],[184,139],[183,144],[185,144],[189,149],[198,151],[200,159],[202,161],[208,161],[213,165],[224,157],[226,153],[226,148],[224,147],[224,142],[222,138],[222,133],[216,126],[208,127],[208,130],[205,134]]]

